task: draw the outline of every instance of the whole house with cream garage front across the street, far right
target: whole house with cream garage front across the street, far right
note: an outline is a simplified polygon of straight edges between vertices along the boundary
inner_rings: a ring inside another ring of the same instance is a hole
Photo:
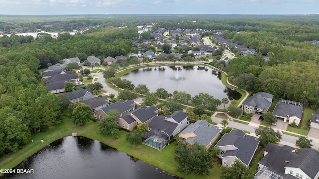
[[[299,125],[303,115],[303,104],[282,99],[276,104],[273,113],[277,118],[283,119],[284,122],[288,120],[288,124],[295,123]]]

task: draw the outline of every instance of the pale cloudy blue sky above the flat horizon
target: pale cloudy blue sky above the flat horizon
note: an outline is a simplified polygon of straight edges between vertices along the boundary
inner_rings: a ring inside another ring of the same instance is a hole
[[[319,14],[319,0],[0,0],[0,14]]]

